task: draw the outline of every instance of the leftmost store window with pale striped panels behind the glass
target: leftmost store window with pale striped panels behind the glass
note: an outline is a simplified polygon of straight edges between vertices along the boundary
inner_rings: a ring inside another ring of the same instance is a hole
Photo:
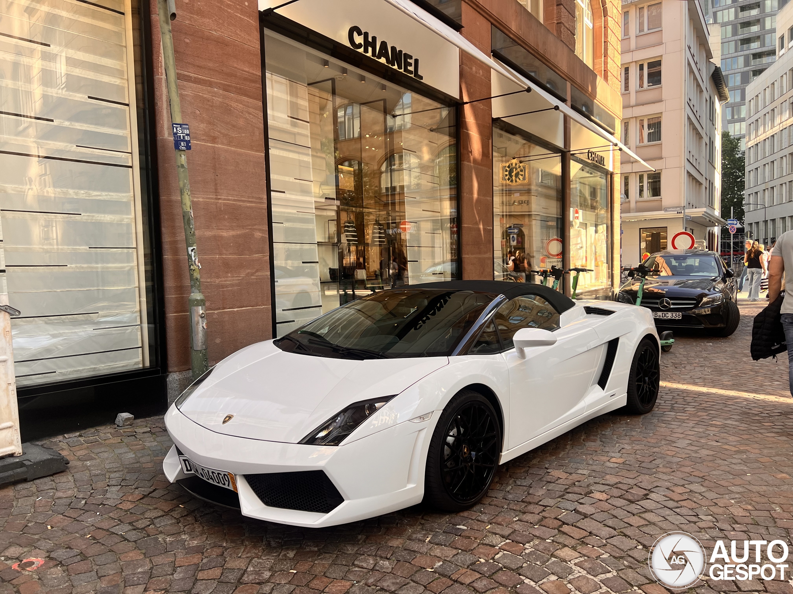
[[[140,6],[102,5],[0,5],[0,283],[22,312],[20,387],[157,364]]]

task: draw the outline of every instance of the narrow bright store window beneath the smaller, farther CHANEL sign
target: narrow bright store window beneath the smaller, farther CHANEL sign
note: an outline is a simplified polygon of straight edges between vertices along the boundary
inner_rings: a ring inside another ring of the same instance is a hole
[[[611,173],[580,162],[570,162],[570,264],[591,268],[578,280],[581,299],[611,296]],[[640,182],[641,183],[641,182]]]

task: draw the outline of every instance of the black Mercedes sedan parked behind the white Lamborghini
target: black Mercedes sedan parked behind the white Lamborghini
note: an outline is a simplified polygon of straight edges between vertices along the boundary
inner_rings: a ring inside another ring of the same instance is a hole
[[[716,252],[675,249],[653,253],[643,262],[646,276],[639,305],[653,312],[655,324],[663,329],[702,328],[715,336],[728,337],[738,327],[737,283]],[[636,303],[641,277],[623,284],[617,300]]]

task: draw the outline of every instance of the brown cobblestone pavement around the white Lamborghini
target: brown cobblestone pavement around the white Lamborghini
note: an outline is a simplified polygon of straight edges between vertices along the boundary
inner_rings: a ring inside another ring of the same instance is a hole
[[[162,417],[53,438],[67,472],[0,489],[0,594],[663,594],[647,551],[667,531],[707,550],[790,542],[793,400],[786,360],[749,358],[759,309],[741,305],[734,337],[678,337],[653,413],[598,417],[501,466],[456,515],[267,524],[167,482]],[[787,581],[696,589],[710,588],[793,594]]]

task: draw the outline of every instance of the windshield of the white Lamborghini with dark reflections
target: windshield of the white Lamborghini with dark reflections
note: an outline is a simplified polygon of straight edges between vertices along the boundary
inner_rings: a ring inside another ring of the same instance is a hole
[[[495,298],[473,291],[381,291],[308,322],[275,345],[342,359],[448,356]]]

